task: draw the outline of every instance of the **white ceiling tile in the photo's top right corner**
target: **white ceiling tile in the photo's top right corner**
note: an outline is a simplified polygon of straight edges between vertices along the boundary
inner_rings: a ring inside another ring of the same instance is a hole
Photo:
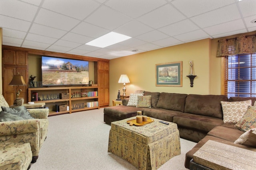
[[[256,15],[256,1],[255,0],[243,0],[238,2],[242,14],[244,17]],[[250,4],[248,6],[248,4]]]

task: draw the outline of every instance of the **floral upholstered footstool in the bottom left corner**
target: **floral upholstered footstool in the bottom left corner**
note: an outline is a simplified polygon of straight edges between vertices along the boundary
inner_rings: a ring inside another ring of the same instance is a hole
[[[0,143],[1,170],[28,170],[32,161],[29,143]]]

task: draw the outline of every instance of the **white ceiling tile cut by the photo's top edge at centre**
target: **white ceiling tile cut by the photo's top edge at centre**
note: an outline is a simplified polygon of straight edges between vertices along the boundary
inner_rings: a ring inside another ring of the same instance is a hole
[[[142,16],[164,4],[166,4],[164,0],[109,0],[106,2],[107,6],[132,18]]]

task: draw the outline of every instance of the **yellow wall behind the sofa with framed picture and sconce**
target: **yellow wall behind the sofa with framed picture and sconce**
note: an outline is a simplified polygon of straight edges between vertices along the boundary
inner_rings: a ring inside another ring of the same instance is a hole
[[[121,74],[127,74],[126,95],[135,90],[150,92],[170,92],[184,94],[210,94],[210,39],[194,41],[172,47],[110,60],[110,105],[116,99],[118,90],[122,94],[122,84],[118,84]],[[193,61],[194,87],[186,75],[190,72],[189,61]],[[183,62],[182,87],[156,86],[156,64]]]

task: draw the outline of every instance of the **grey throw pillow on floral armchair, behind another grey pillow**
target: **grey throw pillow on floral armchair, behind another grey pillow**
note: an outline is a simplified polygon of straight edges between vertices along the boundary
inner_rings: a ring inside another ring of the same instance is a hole
[[[25,106],[18,106],[14,108],[2,106],[2,110],[8,113],[11,113],[13,115],[23,117],[24,119],[34,119],[34,117],[30,115],[30,113],[28,112]]]

